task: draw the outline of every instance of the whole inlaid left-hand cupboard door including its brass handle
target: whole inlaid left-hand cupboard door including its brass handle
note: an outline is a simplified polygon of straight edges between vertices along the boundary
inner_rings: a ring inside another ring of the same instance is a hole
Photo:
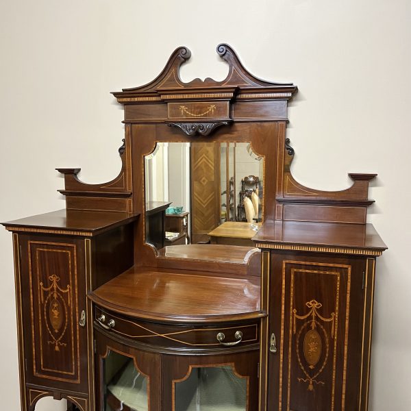
[[[21,236],[28,384],[88,393],[84,267],[82,240]]]

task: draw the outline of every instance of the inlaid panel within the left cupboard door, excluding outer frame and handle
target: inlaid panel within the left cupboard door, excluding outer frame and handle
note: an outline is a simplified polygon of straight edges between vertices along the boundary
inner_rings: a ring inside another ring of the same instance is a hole
[[[29,241],[28,251],[34,376],[79,383],[76,246]]]

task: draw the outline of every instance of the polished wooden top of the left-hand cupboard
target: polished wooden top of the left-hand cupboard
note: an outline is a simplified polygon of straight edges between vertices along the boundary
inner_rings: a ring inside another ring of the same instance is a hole
[[[139,214],[83,210],[58,210],[3,224],[16,232],[55,232],[55,234],[92,236],[134,221]]]

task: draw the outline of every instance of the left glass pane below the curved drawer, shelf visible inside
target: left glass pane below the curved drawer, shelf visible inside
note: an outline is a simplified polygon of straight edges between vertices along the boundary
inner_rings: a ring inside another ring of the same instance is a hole
[[[147,411],[147,377],[132,358],[110,351],[104,361],[105,411]]]

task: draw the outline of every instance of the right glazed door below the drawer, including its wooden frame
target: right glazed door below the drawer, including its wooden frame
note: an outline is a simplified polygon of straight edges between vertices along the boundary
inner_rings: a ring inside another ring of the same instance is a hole
[[[258,350],[163,355],[164,411],[257,411]]]

